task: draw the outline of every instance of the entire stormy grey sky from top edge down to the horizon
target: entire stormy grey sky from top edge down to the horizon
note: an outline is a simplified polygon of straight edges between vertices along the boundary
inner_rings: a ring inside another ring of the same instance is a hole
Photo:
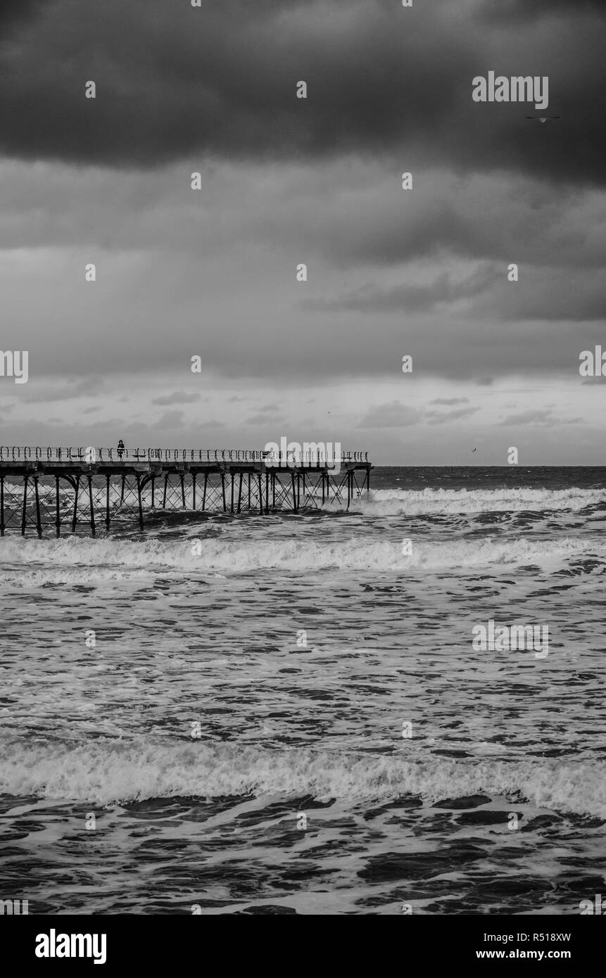
[[[0,441],[603,464],[605,41],[606,0],[3,0]]]

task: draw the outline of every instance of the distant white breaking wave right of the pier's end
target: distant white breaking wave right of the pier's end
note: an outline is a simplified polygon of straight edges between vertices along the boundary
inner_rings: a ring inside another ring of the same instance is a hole
[[[368,515],[584,510],[606,502],[603,489],[375,489],[352,507]]]

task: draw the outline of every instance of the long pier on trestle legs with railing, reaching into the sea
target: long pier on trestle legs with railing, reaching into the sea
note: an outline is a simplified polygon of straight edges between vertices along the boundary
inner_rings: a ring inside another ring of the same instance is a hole
[[[178,511],[349,510],[371,468],[366,452],[0,446],[0,536],[144,530]]]

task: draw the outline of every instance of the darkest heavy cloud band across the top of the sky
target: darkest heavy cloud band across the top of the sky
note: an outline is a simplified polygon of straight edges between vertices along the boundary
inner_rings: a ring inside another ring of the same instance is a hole
[[[606,25],[592,14],[602,6],[562,10],[527,36],[515,18],[495,25],[455,0],[413,10],[395,0],[222,0],[200,10],[184,0],[56,0],[35,7],[19,43],[0,44],[0,149],[142,168],[356,154],[603,184]],[[561,122],[533,125],[527,106],[473,103],[473,77],[491,68],[549,75],[549,111]],[[84,98],[89,79],[96,101]],[[306,100],[295,95],[300,79]]]

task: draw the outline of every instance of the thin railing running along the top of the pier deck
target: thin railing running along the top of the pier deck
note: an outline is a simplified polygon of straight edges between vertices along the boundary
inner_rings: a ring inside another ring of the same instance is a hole
[[[97,448],[42,447],[39,445],[0,445],[0,462],[264,462],[325,465],[334,463],[368,462],[367,452],[342,452],[334,457],[322,452],[270,453],[256,449],[227,448]]]

